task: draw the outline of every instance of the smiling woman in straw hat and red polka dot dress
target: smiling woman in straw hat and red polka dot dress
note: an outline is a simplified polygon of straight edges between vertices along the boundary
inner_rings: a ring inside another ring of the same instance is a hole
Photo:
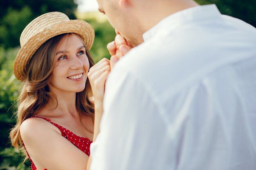
[[[27,152],[32,170],[90,166],[90,144],[99,133],[110,71],[110,62],[103,59],[88,75],[93,40],[90,24],[59,12],[34,19],[20,36],[13,73],[23,86],[10,138]]]

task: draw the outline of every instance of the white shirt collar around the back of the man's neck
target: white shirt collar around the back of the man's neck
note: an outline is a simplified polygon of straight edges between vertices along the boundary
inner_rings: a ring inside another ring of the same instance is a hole
[[[168,17],[157,23],[155,26],[153,26],[151,29],[146,31],[142,36],[144,41],[147,41],[155,37],[156,35],[163,34],[166,31],[174,31],[175,29],[177,29],[178,26],[181,26],[183,24],[187,24],[189,22],[194,22],[197,20],[209,20],[209,18],[216,18],[216,16],[220,15],[221,13],[215,4],[192,7],[169,15]]]

